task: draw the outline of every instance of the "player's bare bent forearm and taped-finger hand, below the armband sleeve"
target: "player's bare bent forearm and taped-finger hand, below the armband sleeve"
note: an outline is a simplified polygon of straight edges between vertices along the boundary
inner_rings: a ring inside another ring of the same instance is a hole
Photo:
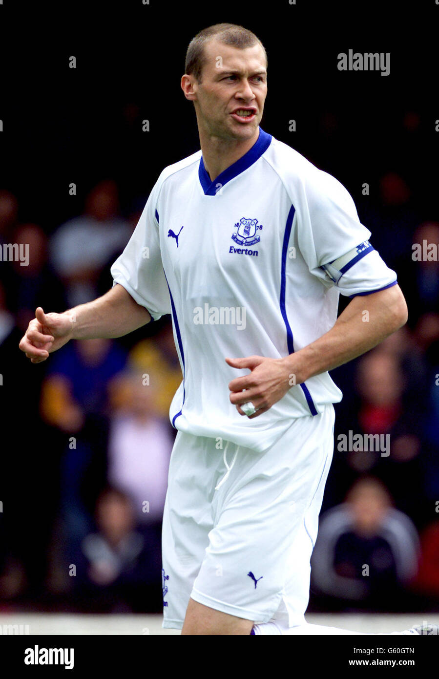
[[[398,285],[358,295],[327,333],[283,359],[264,356],[225,359],[231,367],[251,370],[229,383],[230,401],[241,415],[245,413],[240,405],[251,401],[258,411],[249,419],[259,417],[280,401],[291,386],[364,354],[406,322],[406,301]]]

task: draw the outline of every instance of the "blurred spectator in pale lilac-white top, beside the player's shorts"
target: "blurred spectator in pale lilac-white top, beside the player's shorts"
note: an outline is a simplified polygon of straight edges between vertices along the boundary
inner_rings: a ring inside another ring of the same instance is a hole
[[[160,524],[173,437],[157,411],[159,379],[134,373],[124,379],[129,400],[111,422],[109,482],[133,502],[142,524]],[[160,545],[157,545],[159,549]]]

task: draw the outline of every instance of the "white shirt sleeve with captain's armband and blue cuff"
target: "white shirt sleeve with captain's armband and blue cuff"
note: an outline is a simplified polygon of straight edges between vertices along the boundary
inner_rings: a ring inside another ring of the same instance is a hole
[[[355,297],[396,285],[396,273],[370,244],[354,200],[335,177],[316,168],[305,182],[305,208],[297,219],[299,249],[326,287]]]

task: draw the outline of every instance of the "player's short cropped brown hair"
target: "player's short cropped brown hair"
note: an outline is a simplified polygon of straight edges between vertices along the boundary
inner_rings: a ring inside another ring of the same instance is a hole
[[[237,26],[237,24],[214,24],[213,26],[208,26],[207,29],[199,31],[187,48],[185,73],[187,75],[194,75],[198,84],[202,81],[202,70],[206,63],[204,45],[212,38],[218,39],[224,45],[232,45],[240,50],[259,44],[263,48],[265,61],[268,63],[264,45],[252,31],[244,29],[244,26]]]

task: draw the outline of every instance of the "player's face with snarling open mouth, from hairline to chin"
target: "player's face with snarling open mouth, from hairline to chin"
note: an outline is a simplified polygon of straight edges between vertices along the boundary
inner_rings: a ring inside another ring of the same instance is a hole
[[[244,50],[212,39],[204,47],[202,82],[193,81],[199,125],[223,139],[251,139],[261,122],[267,96],[267,69],[261,45]]]

